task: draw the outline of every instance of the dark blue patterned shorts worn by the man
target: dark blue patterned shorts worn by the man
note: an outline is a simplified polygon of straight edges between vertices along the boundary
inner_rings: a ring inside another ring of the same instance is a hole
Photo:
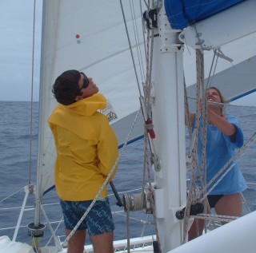
[[[82,215],[89,208],[92,200],[86,201],[65,201],[60,200],[64,223],[66,229],[73,230]],[[86,218],[79,225],[78,230],[87,229],[89,235],[101,235],[104,231],[114,231],[114,221],[112,218],[109,200],[97,200],[90,209]]]

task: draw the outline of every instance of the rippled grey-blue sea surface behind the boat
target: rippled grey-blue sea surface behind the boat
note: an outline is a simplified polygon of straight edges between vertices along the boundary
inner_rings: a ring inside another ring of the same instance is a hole
[[[238,118],[245,140],[249,140],[256,131],[255,107],[229,106],[227,112]],[[17,223],[25,196],[23,188],[29,183],[36,184],[37,149],[38,102],[31,104],[30,102],[0,101],[0,236],[8,235],[11,239],[13,238],[13,227]],[[255,150],[256,141],[252,141],[239,160],[242,173],[246,181],[250,183],[256,183]],[[132,189],[138,190],[128,192],[127,194],[130,196],[141,192],[143,160],[144,140],[138,140],[126,148],[119,164],[117,176],[114,178],[115,188],[121,198],[123,192]],[[256,190],[254,184],[248,185],[249,189],[246,193],[252,199],[250,201],[253,201],[250,208],[255,210]],[[116,200],[111,189],[109,189],[109,193],[116,227],[114,239],[126,239],[126,213],[115,204]],[[6,197],[8,198],[6,199]],[[54,205],[50,205],[52,203]],[[48,218],[51,222],[55,222],[52,223],[54,230],[57,229],[59,234],[64,235],[63,224],[58,223],[62,219],[62,211],[58,205],[56,192],[48,193],[43,204]],[[34,222],[33,206],[34,195],[29,195],[26,211],[22,217],[22,228],[18,231],[18,241],[30,243],[26,225]],[[41,222],[45,223],[46,219],[42,214],[41,217]],[[152,215],[146,215],[143,211],[134,211],[130,213],[129,222],[131,224],[130,237],[155,234]],[[2,230],[2,227],[8,227],[8,229]],[[48,235],[50,235],[50,231],[46,227],[42,245],[48,242]],[[64,237],[61,239],[63,240]]]

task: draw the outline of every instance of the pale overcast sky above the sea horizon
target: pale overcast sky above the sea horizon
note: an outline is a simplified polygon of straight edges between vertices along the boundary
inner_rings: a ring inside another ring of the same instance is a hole
[[[36,2],[34,101],[38,101],[42,18],[42,1]],[[34,0],[0,0],[0,101],[31,100],[33,25]],[[236,104],[256,105],[256,94]]]

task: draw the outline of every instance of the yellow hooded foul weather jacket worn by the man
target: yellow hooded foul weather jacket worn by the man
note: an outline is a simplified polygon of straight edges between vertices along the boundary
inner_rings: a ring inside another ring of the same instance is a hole
[[[118,158],[117,137],[106,116],[97,111],[105,108],[106,98],[97,93],[72,105],[58,105],[49,118],[57,149],[55,185],[62,200],[94,200]],[[100,197],[106,196],[104,188]]]

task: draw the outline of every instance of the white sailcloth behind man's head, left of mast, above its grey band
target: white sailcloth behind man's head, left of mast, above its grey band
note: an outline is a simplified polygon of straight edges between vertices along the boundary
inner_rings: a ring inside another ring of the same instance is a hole
[[[123,4],[128,29],[132,29],[134,20],[130,17],[130,4],[126,1]],[[134,31],[130,32],[132,47],[143,42],[141,10],[139,2],[134,4],[134,15],[140,30],[137,42]],[[144,60],[143,48],[141,53]],[[138,63],[137,58],[135,61]],[[138,111],[138,85],[118,0],[44,2],[40,101],[45,113],[41,118],[41,152],[38,159],[41,192],[54,185],[55,148],[47,120],[56,101],[50,90],[56,77],[67,69],[78,69],[92,77],[100,92],[110,101],[118,120]],[[142,83],[141,77],[139,82]],[[126,121],[126,128],[122,129],[124,135],[128,134],[133,121],[134,117]],[[120,142],[122,140],[119,139]]]

